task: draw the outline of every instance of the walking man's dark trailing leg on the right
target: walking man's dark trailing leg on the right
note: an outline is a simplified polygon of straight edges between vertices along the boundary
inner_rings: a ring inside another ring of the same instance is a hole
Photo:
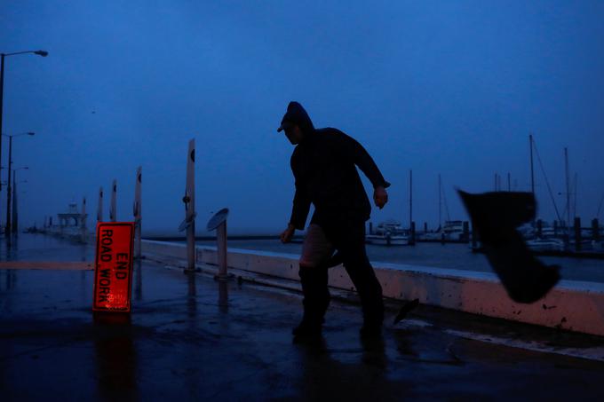
[[[359,293],[363,311],[362,332],[379,333],[384,321],[382,287],[377,280],[365,250],[364,222],[346,222],[326,228],[330,241],[338,253]]]

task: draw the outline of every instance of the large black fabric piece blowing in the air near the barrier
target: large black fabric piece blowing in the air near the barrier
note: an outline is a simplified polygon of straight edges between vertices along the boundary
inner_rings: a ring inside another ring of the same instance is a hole
[[[558,265],[545,265],[527,248],[519,225],[535,217],[531,193],[470,194],[458,191],[481,240],[489,264],[508,296],[519,303],[534,303],[560,280]]]

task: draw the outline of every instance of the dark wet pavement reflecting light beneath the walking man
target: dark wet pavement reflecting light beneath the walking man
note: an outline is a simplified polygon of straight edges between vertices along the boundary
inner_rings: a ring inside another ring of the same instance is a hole
[[[72,261],[89,252],[58,244]],[[95,316],[91,271],[0,270],[0,399],[604,400],[604,362],[489,342],[555,351],[598,337],[420,307],[363,342],[353,297],[332,302],[320,342],[293,343],[295,292],[150,261],[133,279],[130,315]]]

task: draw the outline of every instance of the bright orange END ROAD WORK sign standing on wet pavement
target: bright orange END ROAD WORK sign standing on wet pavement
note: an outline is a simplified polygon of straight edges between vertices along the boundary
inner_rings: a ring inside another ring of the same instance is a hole
[[[134,222],[97,224],[93,311],[130,312]]]

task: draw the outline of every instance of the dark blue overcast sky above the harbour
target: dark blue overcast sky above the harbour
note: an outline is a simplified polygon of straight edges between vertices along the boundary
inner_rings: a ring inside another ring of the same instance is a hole
[[[528,190],[530,132],[560,212],[565,146],[577,214],[604,195],[604,2],[0,2],[0,51],[36,49],[50,55],[4,72],[4,132],[36,131],[13,140],[24,225],[83,196],[93,221],[114,178],[131,220],[142,165],[143,231],[176,233],[195,138],[199,233],[223,207],[232,233],[278,233],[293,148],[276,128],[292,99],[392,182],[374,222],[408,225],[409,169],[417,225],[437,225],[439,173],[451,219],[466,219],[454,186],[490,191],[498,172],[506,189],[510,172]],[[537,162],[536,178],[552,220]]]

